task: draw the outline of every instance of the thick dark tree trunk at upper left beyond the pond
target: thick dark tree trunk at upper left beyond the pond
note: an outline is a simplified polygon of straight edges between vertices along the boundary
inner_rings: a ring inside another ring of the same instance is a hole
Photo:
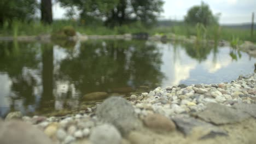
[[[41,0],[41,21],[43,23],[53,22],[53,12],[51,9],[51,0]]]

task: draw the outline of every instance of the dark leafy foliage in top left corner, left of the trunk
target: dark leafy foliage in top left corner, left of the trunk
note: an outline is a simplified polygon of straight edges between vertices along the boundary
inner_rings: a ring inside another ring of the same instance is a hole
[[[30,20],[36,13],[37,8],[37,0],[1,0],[0,25],[3,25],[5,21],[11,22],[13,19]]]

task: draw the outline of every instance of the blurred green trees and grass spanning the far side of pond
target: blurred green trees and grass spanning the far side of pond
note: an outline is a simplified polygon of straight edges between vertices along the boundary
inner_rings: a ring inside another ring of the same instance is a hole
[[[167,37],[195,35],[198,40],[232,41],[235,37],[256,41],[251,36],[249,24],[219,25],[220,14],[213,14],[205,2],[192,6],[184,21],[160,20],[162,0],[55,0],[54,3],[67,9],[66,19],[53,20],[51,0],[1,0],[0,36],[50,34],[68,26],[88,35],[147,32]]]

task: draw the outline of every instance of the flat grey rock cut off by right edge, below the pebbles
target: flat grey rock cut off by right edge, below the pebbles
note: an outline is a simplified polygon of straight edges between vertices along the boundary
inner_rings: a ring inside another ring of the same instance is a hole
[[[241,110],[248,113],[250,116],[256,118],[256,104],[238,103],[232,106],[234,109]]]

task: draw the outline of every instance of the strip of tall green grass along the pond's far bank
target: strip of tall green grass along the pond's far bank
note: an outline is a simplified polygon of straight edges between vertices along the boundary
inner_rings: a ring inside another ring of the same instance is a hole
[[[130,25],[123,25],[120,27],[108,28],[102,25],[102,23],[95,23],[95,25],[84,25],[83,22],[77,22],[72,20],[56,20],[51,25],[43,25],[40,21],[21,22],[14,21],[11,25],[7,22],[0,28],[0,36],[20,36],[20,35],[38,35],[49,34],[59,31],[64,26],[72,26],[75,31],[88,34],[88,35],[112,35],[112,34],[125,34],[136,32],[147,32],[150,35],[161,34],[170,36],[171,34],[195,35],[200,39],[213,39],[213,40],[229,40],[234,38],[240,40],[250,40],[256,43],[256,38],[251,38],[251,32],[249,29],[238,29],[229,27],[209,26],[188,26],[184,23],[174,26],[161,26],[161,27],[144,27],[140,22],[135,22]],[[256,31],[254,31],[254,37],[256,37]]]

